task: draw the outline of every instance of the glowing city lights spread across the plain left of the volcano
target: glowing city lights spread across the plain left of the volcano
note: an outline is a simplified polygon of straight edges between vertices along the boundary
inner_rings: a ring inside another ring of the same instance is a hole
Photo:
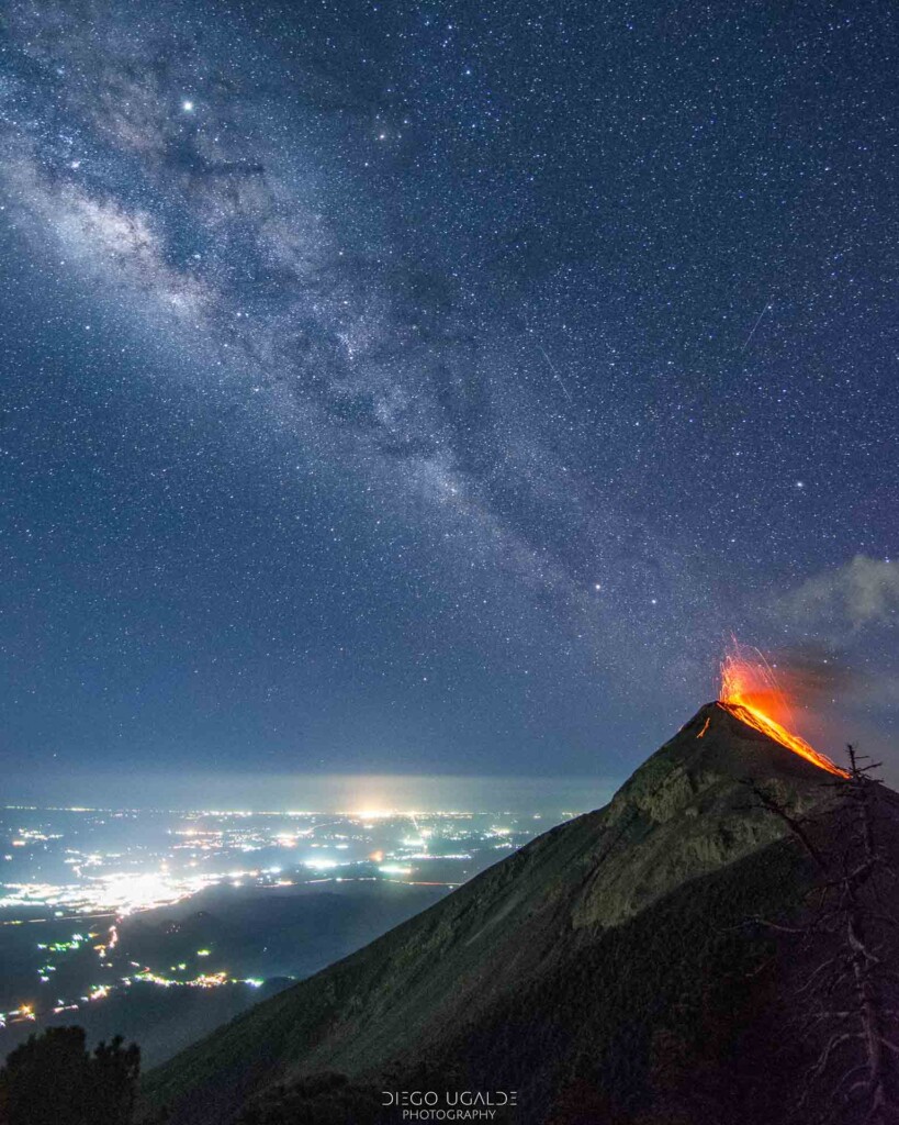
[[[0,1011],[0,1028],[76,1012],[136,987],[261,989],[258,960],[228,964],[215,930],[198,933],[190,953],[178,945],[179,919],[201,912],[203,896],[290,894],[303,884],[379,879],[448,890],[475,873],[476,857],[483,867],[497,847],[532,836],[529,822],[498,828],[487,813],[385,807],[344,816],[0,810],[0,934],[34,924],[36,938],[34,994]],[[257,857],[253,866],[242,862],[247,853]],[[175,944],[161,945],[154,962],[145,943],[140,953],[133,948],[134,934],[146,933],[134,918],[160,909],[172,911]],[[279,966],[278,975],[291,974]]]

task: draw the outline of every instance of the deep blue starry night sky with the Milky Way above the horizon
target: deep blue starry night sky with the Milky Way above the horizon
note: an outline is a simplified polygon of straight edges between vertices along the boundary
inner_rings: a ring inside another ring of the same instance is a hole
[[[7,770],[624,776],[730,633],[889,755],[892,3],[0,34]]]

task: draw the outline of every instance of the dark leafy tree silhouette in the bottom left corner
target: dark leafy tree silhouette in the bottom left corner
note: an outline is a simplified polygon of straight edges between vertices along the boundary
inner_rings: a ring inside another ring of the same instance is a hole
[[[48,1027],[0,1069],[0,1125],[129,1125],[139,1069],[120,1036],[91,1054],[82,1027]]]

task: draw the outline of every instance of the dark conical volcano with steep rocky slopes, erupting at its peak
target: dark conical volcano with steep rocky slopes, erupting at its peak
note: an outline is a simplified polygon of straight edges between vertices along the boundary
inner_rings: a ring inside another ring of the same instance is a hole
[[[143,1119],[363,1125],[463,1090],[515,1091],[491,1119],[528,1125],[786,1122],[801,955],[747,919],[817,878],[788,827],[838,800],[816,758],[705,705],[606,808],[151,1072]]]

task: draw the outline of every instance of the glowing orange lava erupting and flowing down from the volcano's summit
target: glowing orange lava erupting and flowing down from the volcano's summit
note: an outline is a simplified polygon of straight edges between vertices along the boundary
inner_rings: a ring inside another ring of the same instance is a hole
[[[838,777],[848,776],[845,770],[834,765],[824,754],[818,754],[803,738],[791,734],[779,721],[779,718],[789,721],[789,702],[761,652],[751,650],[747,655],[745,649],[734,644],[732,651],[721,662],[718,703],[747,727],[768,735],[807,762]]]

